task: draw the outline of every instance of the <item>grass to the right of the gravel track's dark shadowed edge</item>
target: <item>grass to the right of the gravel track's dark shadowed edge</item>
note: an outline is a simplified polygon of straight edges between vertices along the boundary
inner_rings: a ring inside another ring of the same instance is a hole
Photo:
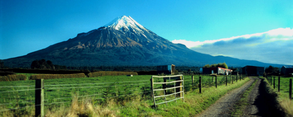
[[[280,92],[278,92],[278,76],[275,76],[275,89],[273,86],[274,79],[272,78],[272,85],[264,78],[266,85],[266,90],[269,94],[275,95],[278,103],[281,106],[281,109],[285,111],[287,116],[293,116],[293,102],[292,99],[289,99],[289,79],[293,77],[281,77],[280,78]]]

